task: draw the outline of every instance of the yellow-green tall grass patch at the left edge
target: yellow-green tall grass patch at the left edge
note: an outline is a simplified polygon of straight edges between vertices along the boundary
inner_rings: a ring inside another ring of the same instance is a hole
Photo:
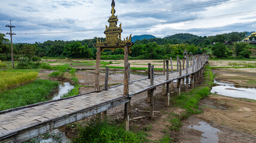
[[[22,83],[31,82],[37,76],[38,72],[35,71],[0,71],[0,92]]]

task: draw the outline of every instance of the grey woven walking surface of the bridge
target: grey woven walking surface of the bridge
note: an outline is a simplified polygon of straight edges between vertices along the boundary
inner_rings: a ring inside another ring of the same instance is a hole
[[[188,71],[192,73],[192,68],[189,67]],[[185,74],[186,70],[182,70],[182,75]],[[169,79],[175,79],[176,77],[179,77],[178,72],[169,74]],[[154,77],[154,85],[161,84],[165,81],[166,76]],[[150,79],[131,82],[129,84],[129,94],[141,91],[149,86]],[[62,117],[78,110],[85,110],[94,105],[124,97],[123,91],[124,85],[120,85],[109,88],[108,91],[89,93],[65,100],[52,101],[46,104],[0,113],[0,141],[2,136],[18,132],[28,126],[35,126],[56,117]]]

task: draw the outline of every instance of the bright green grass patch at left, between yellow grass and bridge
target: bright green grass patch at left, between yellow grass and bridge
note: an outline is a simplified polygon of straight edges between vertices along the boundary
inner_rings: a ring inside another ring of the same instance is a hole
[[[0,92],[0,110],[21,107],[37,102],[50,100],[50,92],[56,89],[59,82],[37,79],[18,88]]]

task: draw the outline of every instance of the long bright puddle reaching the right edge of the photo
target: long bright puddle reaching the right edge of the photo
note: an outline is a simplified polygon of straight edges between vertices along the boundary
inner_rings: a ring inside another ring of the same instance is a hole
[[[256,100],[256,89],[255,88],[236,88],[232,84],[215,82],[219,86],[212,87],[212,93],[217,93],[219,95],[224,95],[227,97],[237,97],[237,98],[248,98],[251,100]]]

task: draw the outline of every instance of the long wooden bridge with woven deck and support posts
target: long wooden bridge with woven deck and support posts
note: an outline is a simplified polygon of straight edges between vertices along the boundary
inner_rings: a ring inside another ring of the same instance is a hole
[[[189,64],[190,59],[190,64]],[[171,61],[171,60],[170,60]],[[181,81],[186,78],[186,91],[188,86],[194,88],[194,84],[199,77],[203,76],[203,67],[207,64],[207,56],[197,56],[186,58],[183,65],[181,61],[177,62],[178,71],[173,72],[172,62],[171,70],[166,70],[163,75],[153,76],[153,66],[149,65],[150,78],[144,78],[129,82],[129,95],[124,96],[124,85],[117,85],[108,88],[107,91],[89,92],[73,97],[62,98],[38,104],[27,105],[25,107],[13,108],[0,111],[0,142],[23,142],[35,138],[50,130],[61,128],[94,114],[102,113],[106,117],[106,111],[110,108],[125,104],[125,122],[126,128],[129,126],[128,106],[131,97],[141,92],[148,92],[147,101],[150,102],[149,116],[153,117],[153,90],[157,86],[165,86],[167,92],[167,104],[169,104],[168,92],[169,83],[177,80],[177,93],[180,94]],[[182,70],[183,66],[183,70]],[[164,68],[165,69],[165,68]],[[170,71],[170,73],[169,73]],[[190,78],[190,84],[189,84]]]

